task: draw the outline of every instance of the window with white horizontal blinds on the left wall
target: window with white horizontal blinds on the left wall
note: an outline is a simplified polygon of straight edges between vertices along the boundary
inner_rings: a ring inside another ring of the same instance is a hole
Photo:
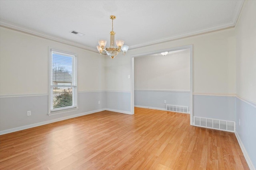
[[[50,50],[49,114],[77,108],[76,55]]]

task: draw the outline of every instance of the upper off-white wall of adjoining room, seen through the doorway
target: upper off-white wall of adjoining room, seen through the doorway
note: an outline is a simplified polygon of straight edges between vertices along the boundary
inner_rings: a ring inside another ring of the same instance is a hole
[[[134,89],[190,90],[190,49],[135,57]]]

